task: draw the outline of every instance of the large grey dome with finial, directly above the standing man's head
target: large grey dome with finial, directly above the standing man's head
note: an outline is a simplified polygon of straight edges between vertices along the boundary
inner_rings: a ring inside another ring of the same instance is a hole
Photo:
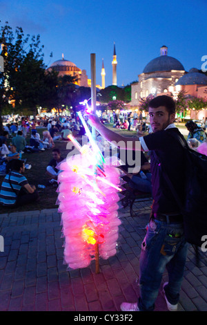
[[[160,56],[152,59],[144,68],[143,73],[152,73],[157,71],[185,71],[184,66],[175,57],[169,57],[167,46],[161,46]]]

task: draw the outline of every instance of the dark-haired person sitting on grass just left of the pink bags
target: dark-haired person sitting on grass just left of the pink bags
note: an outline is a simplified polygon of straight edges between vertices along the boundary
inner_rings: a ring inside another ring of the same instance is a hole
[[[56,166],[64,159],[61,157],[60,151],[58,148],[52,149],[52,159],[48,163],[46,173],[50,176],[49,184],[57,185],[57,176],[60,173],[60,169],[57,169]]]

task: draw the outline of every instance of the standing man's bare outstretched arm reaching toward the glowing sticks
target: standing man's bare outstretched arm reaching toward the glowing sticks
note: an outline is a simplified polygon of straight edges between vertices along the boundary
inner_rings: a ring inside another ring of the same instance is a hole
[[[135,138],[121,136],[121,134],[108,129],[107,127],[105,127],[105,125],[100,122],[97,115],[90,114],[88,116],[88,121],[92,127],[95,127],[95,129],[101,134],[101,136],[103,136],[104,139],[109,142],[112,142],[115,147],[120,147],[120,149],[127,148],[130,150],[144,151],[140,145],[139,140]]]

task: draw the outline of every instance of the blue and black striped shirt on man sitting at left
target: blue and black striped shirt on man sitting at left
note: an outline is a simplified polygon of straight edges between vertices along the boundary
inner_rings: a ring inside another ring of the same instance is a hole
[[[10,186],[10,183],[12,184],[14,190]],[[5,176],[1,184],[0,203],[3,205],[14,205],[21,187],[26,184],[28,184],[28,180],[25,176],[19,174],[17,171],[11,171]]]

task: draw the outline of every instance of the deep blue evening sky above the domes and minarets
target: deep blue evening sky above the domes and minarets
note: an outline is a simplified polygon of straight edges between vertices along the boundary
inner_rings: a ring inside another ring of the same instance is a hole
[[[46,65],[63,53],[90,78],[90,53],[96,53],[97,84],[103,57],[106,86],[112,84],[114,41],[118,86],[138,80],[162,45],[186,71],[200,69],[207,55],[206,14],[206,0],[0,0],[1,26],[8,21],[25,35],[39,34]]]

